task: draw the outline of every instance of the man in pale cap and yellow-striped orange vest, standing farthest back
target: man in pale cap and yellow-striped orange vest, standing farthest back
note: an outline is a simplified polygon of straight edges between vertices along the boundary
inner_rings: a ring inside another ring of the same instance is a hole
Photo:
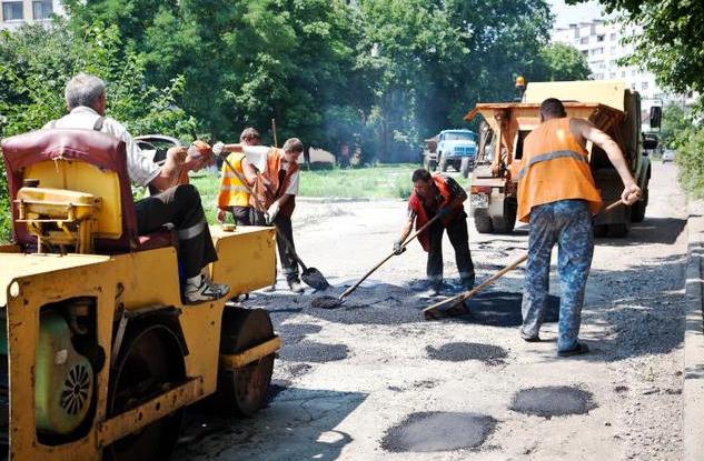
[[[259,146],[261,137],[259,132],[254,128],[246,128],[239,136],[239,142],[241,146]],[[221,144],[222,151],[229,151],[225,144]],[[227,157],[227,161],[235,168],[236,171],[230,171],[230,167],[222,162],[222,170],[220,172],[220,189],[218,191],[218,221],[225,220],[227,212],[235,217],[237,224],[251,226],[255,217],[252,216],[252,208],[249,204],[249,191],[242,184],[245,178],[245,171],[242,162],[247,164],[247,158],[244,151],[231,152]]]

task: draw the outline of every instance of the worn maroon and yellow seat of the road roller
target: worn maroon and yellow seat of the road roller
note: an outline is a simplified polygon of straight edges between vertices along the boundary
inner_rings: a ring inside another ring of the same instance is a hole
[[[49,192],[82,192],[86,197],[98,199],[100,203],[91,231],[96,253],[126,253],[173,242],[170,231],[137,234],[123,141],[93,130],[48,129],[2,140],[2,152],[8,173],[13,238],[23,251],[31,252],[38,248],[37,235],[19,219],[18,193],[22,189],[20,197],[28,197],[23,186]],[[46,197],[57,196],[48,193]]]

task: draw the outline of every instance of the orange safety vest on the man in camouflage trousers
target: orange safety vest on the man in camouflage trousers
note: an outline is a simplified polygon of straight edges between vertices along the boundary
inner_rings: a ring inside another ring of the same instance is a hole
[[[593,213],[602,208],[589,157],[569,131],[569,118],[547,120],[525,139],[518,171],[518,219],[531,209],[559,200],[586,200]]]

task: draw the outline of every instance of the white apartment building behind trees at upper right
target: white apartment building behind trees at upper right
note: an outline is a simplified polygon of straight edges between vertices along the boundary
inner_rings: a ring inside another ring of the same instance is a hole
[[[633,36],[635,27],[597,19],[589,22],[569,24],[553,31],[554,42],[572,44],[586,58],[594,80],[621,80],[641,93],[644,109],[653,103],[670,101],[692,104],[694,94],[672,94],[660,88],[655,76],[635,67],[621,66],[618,60],[633,52],[633,47],[624,43],[624,38]]]

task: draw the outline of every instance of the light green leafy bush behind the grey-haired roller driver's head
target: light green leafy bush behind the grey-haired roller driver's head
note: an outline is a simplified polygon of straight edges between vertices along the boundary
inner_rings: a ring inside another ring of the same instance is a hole
[[[122,51],[116,27],[88,27],[77,34],[59,21],[54,27],[24,26],[0,32],[0,121],[2,137],[36,130],[66,113],[63,88],[79,71],[106,80],[108,114],[132,132],[161,132],[192,139],[196,120],[178,107],[184,78],[168,87],[145,82],[140,54]],[[9,208],[0,174],[0,240],[7,239]]]

